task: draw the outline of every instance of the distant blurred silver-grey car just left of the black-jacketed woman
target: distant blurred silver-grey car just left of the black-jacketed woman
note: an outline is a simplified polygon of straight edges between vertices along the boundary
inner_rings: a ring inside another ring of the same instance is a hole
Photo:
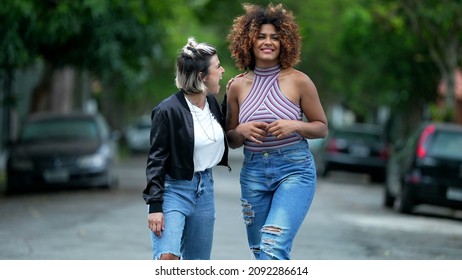
[[[138,118],[127,127],[125,140],[127,146],[133,153],[145,153],[149,151],[151,143],[149,135],[151,133],[151,117],[149,115]]]

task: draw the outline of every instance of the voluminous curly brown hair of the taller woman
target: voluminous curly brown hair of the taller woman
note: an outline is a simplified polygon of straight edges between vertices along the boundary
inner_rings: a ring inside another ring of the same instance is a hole
[[[234,19],[227,40],[231,56],[240,70],[255,69],[252,46],[262,24],[272,24],[281,41],[279,63],[282,68],[295,66],[300,61],[301,36],[293,13],[282,4],[269,4],[263,8],[254,4],[243,4],[245,14]]]

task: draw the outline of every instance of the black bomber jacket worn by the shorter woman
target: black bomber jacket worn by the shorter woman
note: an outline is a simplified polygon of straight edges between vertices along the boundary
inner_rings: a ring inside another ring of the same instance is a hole
[[[228,164],[225,117],[214,96],[208,95],[210,111],[223,128],[225,152],[218,165]],[[183,92],[166,98],[151,114],[151,148],[149,150],[143,198],[149,204],[149,213],[162,212],[165,174],[178,180],[192,180],[194,175],[194,123]]]

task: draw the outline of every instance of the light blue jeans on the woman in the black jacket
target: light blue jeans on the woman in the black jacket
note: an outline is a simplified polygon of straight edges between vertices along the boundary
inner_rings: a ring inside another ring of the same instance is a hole
[[[212,169],[195,172],[191,181],[165,178],[165,230],[151,231],[153,259],[174,254],[184,260],[209,260],[215,224]]]

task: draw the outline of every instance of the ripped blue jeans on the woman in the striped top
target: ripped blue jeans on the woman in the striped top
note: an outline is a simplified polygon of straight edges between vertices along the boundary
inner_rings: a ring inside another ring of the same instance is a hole
[[[267,152],[244,149],[240,183],[247,239],[255,258],[290,259],[316,189],[307,142]]]

